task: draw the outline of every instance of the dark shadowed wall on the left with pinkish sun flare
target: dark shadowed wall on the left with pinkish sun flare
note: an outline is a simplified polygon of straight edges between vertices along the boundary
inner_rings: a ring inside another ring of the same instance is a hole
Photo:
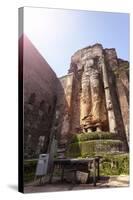
[[[24,155],[46,152],[56,105],[56,74],[23,37]]]

